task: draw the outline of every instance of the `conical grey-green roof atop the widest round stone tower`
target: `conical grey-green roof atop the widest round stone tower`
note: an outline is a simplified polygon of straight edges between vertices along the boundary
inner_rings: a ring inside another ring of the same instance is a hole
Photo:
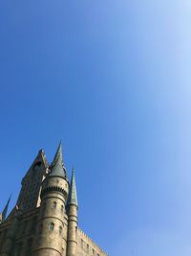
[[[67,178],[66,168],[64,167],[64,164],[63,164],[61,142],[59,143],[57,151],[53,158],[53,163],[51,165],[51,176],[61,176],[61,177]]]

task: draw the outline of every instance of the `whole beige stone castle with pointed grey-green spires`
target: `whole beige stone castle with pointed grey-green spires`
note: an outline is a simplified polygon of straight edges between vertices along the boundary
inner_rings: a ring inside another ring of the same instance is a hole
[[[39,151],[16,205],[0,215],[0,256],[106,256],[77,222],[74,170],[69,183],[61,144],[50,165]]]

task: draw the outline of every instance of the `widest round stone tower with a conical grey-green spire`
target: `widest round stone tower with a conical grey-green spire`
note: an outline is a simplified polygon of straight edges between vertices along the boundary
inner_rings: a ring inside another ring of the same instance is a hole
[[[42,183],[40,213],[32,256],[63,256],[67,241],[65,202],[69,182],[63,165],[61,144],[55,153],[51,172]]]

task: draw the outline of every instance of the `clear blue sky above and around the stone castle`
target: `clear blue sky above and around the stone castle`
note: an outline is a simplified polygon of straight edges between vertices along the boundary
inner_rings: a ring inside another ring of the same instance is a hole
[[[62,139],[97,244],[190,256],[190,24],[190,0],[1,0],[0,208]]]

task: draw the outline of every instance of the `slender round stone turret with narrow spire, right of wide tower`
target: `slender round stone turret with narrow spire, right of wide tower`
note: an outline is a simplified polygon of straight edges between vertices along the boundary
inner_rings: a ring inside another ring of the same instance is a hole
[[[71,179],[69,198],[67,201],[67,215],[68,215],[68,244],[67,256],[76,256],[77,251],[77,196],[74,178],[74,169]]]

